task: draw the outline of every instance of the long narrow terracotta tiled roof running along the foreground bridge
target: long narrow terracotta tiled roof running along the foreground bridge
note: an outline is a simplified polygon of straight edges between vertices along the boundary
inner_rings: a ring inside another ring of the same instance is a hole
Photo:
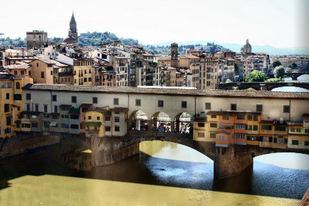
[[[163,95],[198,95],[232,98],[284,98],[309,100],[309,92],[289,91],[244,91],[222,89],[174,89],[174,88],[139,88],[139,87],[104,87],[65,84],[27,84],[25,90],[52,90],[93,93],[150,93]]]

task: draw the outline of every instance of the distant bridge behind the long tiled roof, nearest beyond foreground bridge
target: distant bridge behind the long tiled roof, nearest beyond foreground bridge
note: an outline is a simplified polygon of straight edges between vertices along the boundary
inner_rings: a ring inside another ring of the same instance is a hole
[[[255,90],[271,91],[277,87],[299,87],[309,90],[308,82],[231,82],[219,84],[219,89],[229,89],[231,87],[253,88]]]

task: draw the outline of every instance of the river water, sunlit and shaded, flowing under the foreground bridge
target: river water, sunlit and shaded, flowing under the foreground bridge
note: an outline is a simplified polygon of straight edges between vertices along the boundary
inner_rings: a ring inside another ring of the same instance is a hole
[[[253,167],[219,181],[211,159],[192,148],[144,141],[140,150],[88,171],[46,150],[2,160],[0,205],[298,205],[309,186],[309,155],[255,157]]]

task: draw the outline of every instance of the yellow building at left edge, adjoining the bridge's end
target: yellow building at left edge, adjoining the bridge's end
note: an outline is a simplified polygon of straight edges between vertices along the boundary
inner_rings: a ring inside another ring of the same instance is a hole
[[[24,110],[21,88],[26,84],[33,84],[33,79],[0,73],[0,138],[12,137],[21,130],[19,113]]]

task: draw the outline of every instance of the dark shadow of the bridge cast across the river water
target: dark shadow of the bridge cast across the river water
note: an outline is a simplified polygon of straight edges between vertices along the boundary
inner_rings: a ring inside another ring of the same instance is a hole
[[[188,147],[186,149],[193,150]],[[14,187],[10,185],[10,179],[21,176],[52,174],[300,199],[309,186],[308,170],[280,168],[259,161],[254,161],[254,166],[249,166],[238,176],[219,180],[214,179],[213,163],[164,159],[144,152],[112,165],[95,167],[88,172],[71,170],[50,157],[48,150],[49,148],[1,160],[1,187]]]

